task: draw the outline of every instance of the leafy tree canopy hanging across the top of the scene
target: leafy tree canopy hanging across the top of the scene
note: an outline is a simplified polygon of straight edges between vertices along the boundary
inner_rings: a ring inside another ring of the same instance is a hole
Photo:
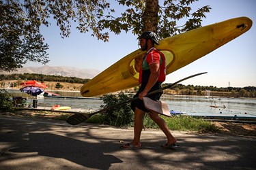
[[[40,34],[42,25],[57,22],[61,37],[70,35],[71,25],[81,33],[102,41],[109,40],[109,32],[155,31],[165,38],[201,27],[209,6],[193,12],[191,4],[199,0],[0,0],[0,71],[23,67],[27,61],[48,63],[48,44]],[[115,5],[123,12],[116,14]],[[187,20],[178,25],[178,21]]]

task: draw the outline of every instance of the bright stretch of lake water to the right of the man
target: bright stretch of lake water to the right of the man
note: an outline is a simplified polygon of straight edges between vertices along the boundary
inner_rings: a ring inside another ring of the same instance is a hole
[[[169,109],[200,114],[251,114],[256,116],[256,99],[175,96],[163,98]],[[211,107],[218,106],[218,107]],[[224,107],[225,106],[225,107]]]

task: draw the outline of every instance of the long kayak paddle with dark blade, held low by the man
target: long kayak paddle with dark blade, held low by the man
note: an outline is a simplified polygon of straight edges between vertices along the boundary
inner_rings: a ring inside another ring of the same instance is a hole
[[[171,87],[175,86],[176,84],[178,84],[178,83],[180,83],[180,82],[182,82],[182,81],[184,81],[184,80],[187,80],[187,79],[189,79],[189,78],[193,78],[193,77],[195,77],[195,76],[197,76],[197,75],[202,75],[202,74],[205,74],[205,73],[207,73],[207,72],[197,73],[197,74],[194,74],[194,75],[190,75],[190,76],[188,76],[188,77],[186,77],[186,78],[183,78],[182,80],[179,80],[179,81],[177,81],[177,82],[175,82],[175,83],[173,83],[173,84],[170,84],[170,85],[168,85],[168,86],[165,86],[165,87],[162,87],[162,88],[160,88],[160,89],[158,89],[158,90],[155,90],[155,91],[153,91],[153,92],[150,92],[150,93],[147,94],[147,96],[152,95],[152,94],[155,94],[155,93],[160,92],[160,91],[162,91],[162,90],[165,90],[165,89],[167,89],[167,88],[171,88]],[[106,107],[106,108],[104,108],[104,109],[100,109],[100,110],[98,110],[98,111],[96,111],[96,112],[94,112],[94,113],[91,113],[91,114],[85,114],[85,113],[73,114],[72,116],[70,116],[70,117],[67,118],[66,122],[68,122],[68,124],[71,124],[71,125],[77,125],[77,124],[80,124],[80,123],[84,122],[85,120],[91,118],[91,116],[94,116],[95,114],[98,114],[98,113],[100,113],[100,112],[105,112],[105,111],[107,111],[107,110],[109,110],[109,109],[113,109],[113,108],[115,108],[115,107],[119,107],[119,106],[121,106],[121,105],[124,105],[124,104],[126,104],[126,103],[130,103],[131,101],[134,101],[134,100],[137,100],[137,99],[139,99],[139,97],[135,97],[135,98],[129,99],[129,100],[127,100],[127,101],[123,101],[123,102],[118,103],[118,104],[116,104],[116,105],[113,105],[113,106],[111,106],[111,107]]]

